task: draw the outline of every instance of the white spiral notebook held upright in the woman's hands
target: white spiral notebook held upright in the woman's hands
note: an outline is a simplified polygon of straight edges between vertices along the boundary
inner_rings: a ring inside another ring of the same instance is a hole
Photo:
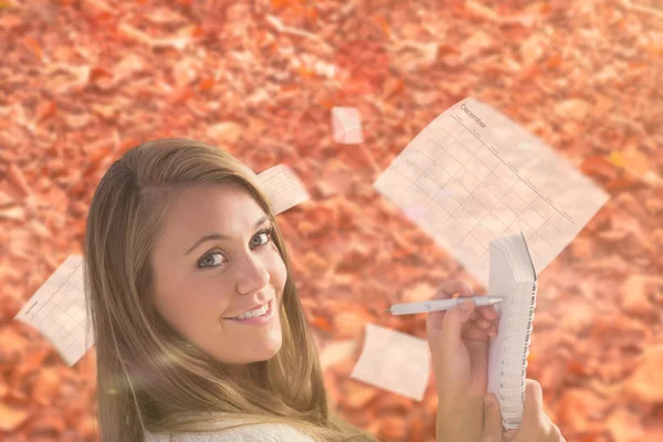
[[[506,299],[495,305],[499,326],[488,345],[487,390],[499,401],[503,427],[514,430],[520,427],[525,406],[537,277],[523,233],[491,240],[488,249],[488,293]]]

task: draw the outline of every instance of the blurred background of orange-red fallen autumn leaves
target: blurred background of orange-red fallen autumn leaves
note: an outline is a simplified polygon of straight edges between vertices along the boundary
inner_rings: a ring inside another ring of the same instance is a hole
[[[419,402],[349,375],[367,323],[425,336],[383,308],[485,290],[371,189],[474,96],[611,196],[539,275],[527,377],[568,442],[663,441],[661,1],[0,0],[0,440],[98,440],[94,348],[70,368],[13,317],[82,254],[108,166],[186,137],[298,175],[312,199],[277,219],[332,401],[434,441],[432,380]],[[335,143],[334,106],[364,143]]]

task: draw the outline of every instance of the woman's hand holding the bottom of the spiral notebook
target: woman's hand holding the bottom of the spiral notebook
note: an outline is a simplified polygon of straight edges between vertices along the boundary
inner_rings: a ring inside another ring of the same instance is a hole
[[[532,379],[525,385],[525,410],[518,430],[504,432],[502,412],[494,394],[486,396],[482,442],[566,442],[559,429],[544,412],[541,386]]]

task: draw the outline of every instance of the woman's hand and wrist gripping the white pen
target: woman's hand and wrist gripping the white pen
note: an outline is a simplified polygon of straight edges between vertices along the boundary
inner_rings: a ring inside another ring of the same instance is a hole
[[[472,296],[460,281],[440,285],[433,299]],[[438,387],[438,438],[476,441],[483,428],[483,402],[488,377],[488,340],[497,334],[492,306],[466,301],[446,312],[431,312],[427,335]],[[454,439],[455,438],[455,439]]]

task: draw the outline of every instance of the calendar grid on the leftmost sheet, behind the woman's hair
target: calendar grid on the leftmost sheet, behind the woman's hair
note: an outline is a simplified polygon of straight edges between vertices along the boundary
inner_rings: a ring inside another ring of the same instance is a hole
[[[80,272],[77,267],[34,314],[35,326],[62,348],[85,344],[86,313]]]

